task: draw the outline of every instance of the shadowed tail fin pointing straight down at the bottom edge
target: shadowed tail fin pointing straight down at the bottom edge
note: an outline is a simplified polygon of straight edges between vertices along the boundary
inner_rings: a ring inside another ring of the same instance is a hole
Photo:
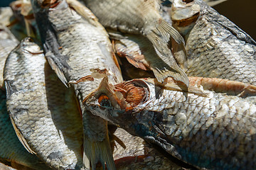
[[[92,141],[89,137],[84,137],[84,153],[83,153],[83,169],[96,169],[96,164],[100,162],[105,169],[115,170],[114,159],[110,147],[110,140],[108,135],[102,141]]]

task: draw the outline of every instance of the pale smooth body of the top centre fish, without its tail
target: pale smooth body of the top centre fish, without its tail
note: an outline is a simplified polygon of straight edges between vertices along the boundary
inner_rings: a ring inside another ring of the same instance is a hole
[[[102,26],[122,30],[124,33],[147,34],[161,18],[158,12],[159,2],[154,0],[146,1],[146,3],[140,0],[85,0],[85,5],[95,13]],[[152,26],[146,26],[151,24]]]

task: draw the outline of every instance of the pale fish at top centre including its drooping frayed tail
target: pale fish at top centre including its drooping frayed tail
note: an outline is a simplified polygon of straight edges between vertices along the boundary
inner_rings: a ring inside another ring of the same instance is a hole
[[[174,55],[186,59],[183,52],[183,38],[160,15],[159,1],[157,0],[84,0],[88,8],[95,13],[105,28],[118,30],[122,33],[143,35],[153,44],[157,55],[155,62],[164,62],[165,67],[154,65],[156,79],[163,82],[166,77],[174,77],[188,86],[188,77],[178,66]],[[113,10],[114,9],[114,10]],[[111,11],[111,12],[110,12]],[[171,51],[172,44],[180,47],[180,52]],[[186,61],[186,60],[184,60]],[[153,68],[153,67],[152,67]]]

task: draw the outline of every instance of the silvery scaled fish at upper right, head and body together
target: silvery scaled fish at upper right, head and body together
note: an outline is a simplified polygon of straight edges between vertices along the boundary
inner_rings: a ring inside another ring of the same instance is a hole
[[[194,18],[186,20],[190,16]],[[173,26],[186,40],[188,76],[256,84],[256,42],[250,35],[199,0],[187,6],[175,0],[171,18]]]

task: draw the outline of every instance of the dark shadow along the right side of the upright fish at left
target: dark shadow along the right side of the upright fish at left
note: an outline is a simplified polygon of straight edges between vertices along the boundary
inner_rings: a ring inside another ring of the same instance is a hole
[[[82,116],[73,87],[67,88],[57,75],[45,64],[46,97],[48,110],[60,138],[75,152],[78,159],[76,167],[82,166]]]

